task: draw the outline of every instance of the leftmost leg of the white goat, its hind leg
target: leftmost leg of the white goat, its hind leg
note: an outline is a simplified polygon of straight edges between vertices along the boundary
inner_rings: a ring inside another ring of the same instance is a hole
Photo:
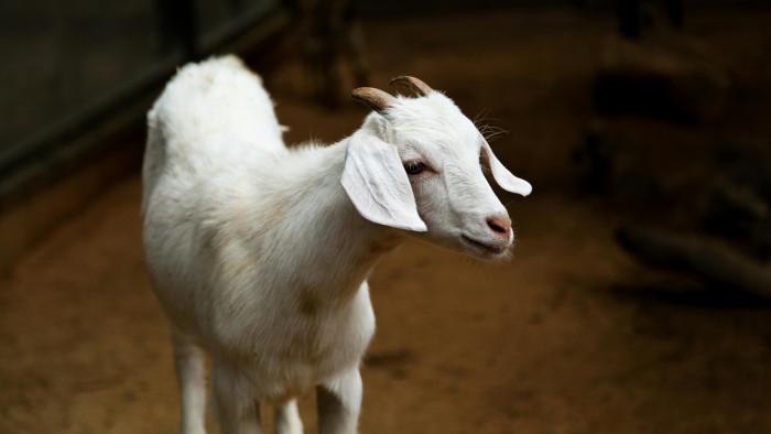
[[[193,339],[174,333],[174,365],[180,383],[182,434],[206,432],[206,354]]]

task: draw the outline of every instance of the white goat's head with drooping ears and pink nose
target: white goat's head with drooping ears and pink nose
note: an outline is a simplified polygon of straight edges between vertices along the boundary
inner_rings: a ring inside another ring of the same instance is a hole
[[[443,94],[428,88],[421,98],[394,98],[372,91],[376,104],[370,106],[377,113],[351,137],[343,175],[359,213],[454,250],[506,256],[514,239],[511,220],[480,158],[504,189],[525,196],[530,184],[503,167],[474,123]]]

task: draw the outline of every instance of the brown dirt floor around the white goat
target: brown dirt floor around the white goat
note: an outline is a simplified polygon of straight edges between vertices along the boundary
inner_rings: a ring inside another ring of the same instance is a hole
[[[771,72],[769,23],[707,14],[689,29],[754,86]],[[636,211],[578,187],[569,153],[597,119],[591,83],[612,17],[489,11],[369,19],[367,29],[374,86],[409,73],[469,117],[485,113],[509,131],[496,153],[534,193],[501,195],[518,237],[512,261],[406,242],[377,267],[362,433],[771,432],[771,304],[642,268],[612,237]],[[357,128],[363,109],[305,102],[301,77],[291,63],[268,77],[290,142]],[[708,126],[605,122],[687,169],[717,137],[768,145],[770,89],[753,87]],[[0,432],[177,430],[170,334],[143,270],[140,187],[138,174],[112,186],[0,278]],[[306,432],[313,409],[305,397]]]

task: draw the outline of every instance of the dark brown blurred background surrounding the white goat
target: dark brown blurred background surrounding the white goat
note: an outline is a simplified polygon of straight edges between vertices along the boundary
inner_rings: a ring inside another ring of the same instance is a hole
[[[141,117],[232,50],[287,143],[340,140],[352,87],[409,74],[533,184],[499,192],[513,260],[410,241],[378,265],[362,433],[771,432],[767,2],[304,4],[195,3],[192,44],[153,2],[0,7],[0,432],[177,430]]]

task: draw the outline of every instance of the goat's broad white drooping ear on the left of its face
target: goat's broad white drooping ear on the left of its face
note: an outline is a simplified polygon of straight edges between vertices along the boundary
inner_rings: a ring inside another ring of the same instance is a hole
[[[426,231],[397,147],[366,132],[348,142],[340,180],[356,209],[370,221]]]

